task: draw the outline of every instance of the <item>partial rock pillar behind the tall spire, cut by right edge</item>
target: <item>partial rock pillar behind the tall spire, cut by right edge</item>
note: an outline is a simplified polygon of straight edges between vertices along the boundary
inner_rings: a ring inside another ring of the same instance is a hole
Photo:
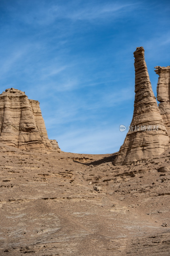
[[[170,137],[170,66],[156,66],[155,68],[156,74],[159,75],[157,86],[157,100],[160,102],[159,111]]]

